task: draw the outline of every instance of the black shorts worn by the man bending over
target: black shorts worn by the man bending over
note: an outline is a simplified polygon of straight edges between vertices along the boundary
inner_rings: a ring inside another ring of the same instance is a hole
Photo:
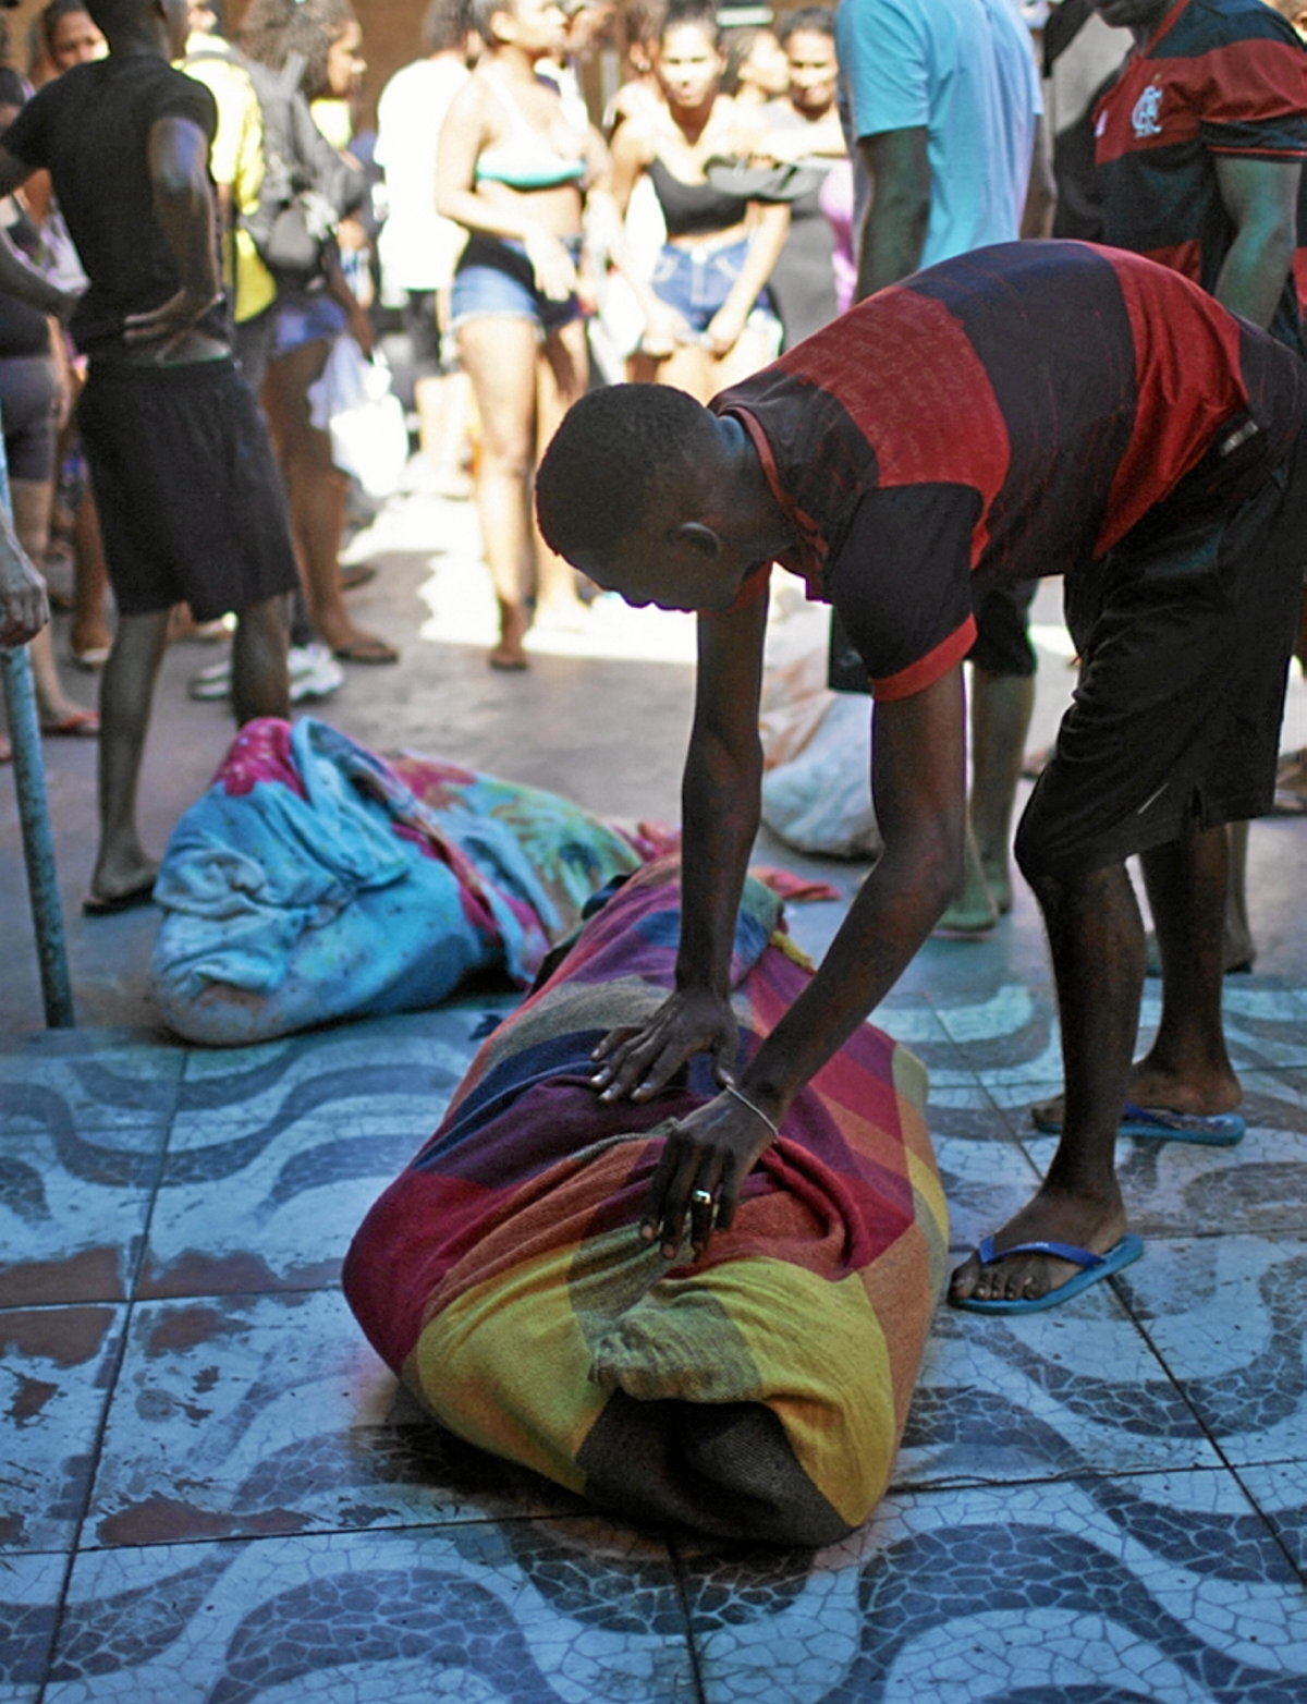
[[[1225,511],[1145,518],[1089,596],[1068,578],[1082,670],[1017,828],[1031,879],[1271,808],[1305,513],[1307,438]]]

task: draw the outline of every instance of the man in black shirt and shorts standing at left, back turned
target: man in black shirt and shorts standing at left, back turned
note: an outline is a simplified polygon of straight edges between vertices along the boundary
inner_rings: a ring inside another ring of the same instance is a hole
[[[227,343],[208,150],[213,95],[169,65],[186,0],[90,0],[109,58],[41,89],[0,145],[0,194],[55,179],[90,286],[75,303],[5,242],[0,288],[72,312],[90,356],[78,416],[119,610],[101,688],[101,843],[89,913],[150,896],[136,782],[169,610],[239,617],[239,721],[286,716],[285,501]],[[104,184],[114,194],[104,194]]]

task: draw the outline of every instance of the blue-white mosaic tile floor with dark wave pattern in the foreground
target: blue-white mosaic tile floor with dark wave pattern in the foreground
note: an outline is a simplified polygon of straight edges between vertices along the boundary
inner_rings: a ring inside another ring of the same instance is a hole
[[[0,1043],[0,1704],[1304,1704],[1307,990],[1229,1004],[1244,1143],[1123,1142],[1143,1261],[942,1309],[888,1498],[816,1554],[610,1523],[360,1338],[344,1246],[504,1000]],[[879,1021],[961,1252],[1051,1152],[1051,1009],[973,978]]]

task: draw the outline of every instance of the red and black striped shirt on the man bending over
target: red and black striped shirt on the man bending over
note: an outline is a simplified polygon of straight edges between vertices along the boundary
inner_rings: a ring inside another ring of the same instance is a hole
[[[1017,242],[869,296],[712,409],[794,523],[782,566],[898,699],[966,656],[987,584],[1074,573],[1167,499],[1237,501],[1302,429],[1307,366],[1138,256]]]

